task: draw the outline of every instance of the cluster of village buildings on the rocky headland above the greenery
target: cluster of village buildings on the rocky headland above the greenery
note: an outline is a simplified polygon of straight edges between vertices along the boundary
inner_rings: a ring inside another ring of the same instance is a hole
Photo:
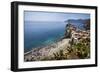
[[[71,38],[75,43],[78,43],[81,39],[90,38],[90,30],[81,30],[69,23],[66,25],[65,37]]]

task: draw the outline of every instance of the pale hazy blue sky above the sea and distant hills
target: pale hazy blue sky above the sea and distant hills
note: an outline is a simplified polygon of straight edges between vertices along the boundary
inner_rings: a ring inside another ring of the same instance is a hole
[[[88,19],[88,18],[90,18],[90,14],[24,11],[24,20],[25,21],[62,22],[62,21],[66,21],[68,19]]]

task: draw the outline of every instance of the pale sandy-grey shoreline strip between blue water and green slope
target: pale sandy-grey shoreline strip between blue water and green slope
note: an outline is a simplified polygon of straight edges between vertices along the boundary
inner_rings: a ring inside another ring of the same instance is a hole
[[[24,53],[24,61],[31,61],[33,58],[34,61],[39,61],[39,59],[41,60],[44,57],[53,57],[53,53],[65,50],[67,46],[69,46],[70,40],[70,38],[61,39],[60,41],[45,47],[33,48],[31,51]]]

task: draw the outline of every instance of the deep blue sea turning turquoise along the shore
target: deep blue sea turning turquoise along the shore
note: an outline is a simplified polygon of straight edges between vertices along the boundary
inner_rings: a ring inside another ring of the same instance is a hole
[[[65,22],[24,22],[24,52],[54,43],[64,36]],[[72,22],[83,29],[82,22]]]

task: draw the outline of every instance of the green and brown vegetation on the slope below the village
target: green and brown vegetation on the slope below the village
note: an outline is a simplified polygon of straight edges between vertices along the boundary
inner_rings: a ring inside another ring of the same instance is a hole
[[[70,46],[66,50],[54,53],[54,59],[85,59],[90,58],[90,39],[81,39],[78,43],[70,41]],[[65,53],[65,54],[64,54]]]

